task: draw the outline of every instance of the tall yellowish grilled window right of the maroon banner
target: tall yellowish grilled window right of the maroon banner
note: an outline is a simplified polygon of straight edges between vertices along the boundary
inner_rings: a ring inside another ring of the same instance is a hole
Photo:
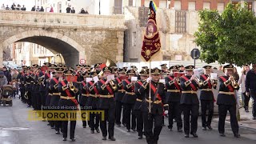
[[[175,33],[186,33],[186,11],[176,10]]]

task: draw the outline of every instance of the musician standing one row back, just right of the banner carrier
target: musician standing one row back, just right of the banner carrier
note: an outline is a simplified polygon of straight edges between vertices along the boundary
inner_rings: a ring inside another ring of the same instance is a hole
[[[170,66],[171,71],[169,76],[166,76],[166,102],[169,104],[168,110],[168,120],[169,126],[168,130],[172,131],[174,118],[176,118],[178,132],[182,132],[182,107],[181,103],[181,86],[177,77],[174,73],[178,71],[177,66]]]

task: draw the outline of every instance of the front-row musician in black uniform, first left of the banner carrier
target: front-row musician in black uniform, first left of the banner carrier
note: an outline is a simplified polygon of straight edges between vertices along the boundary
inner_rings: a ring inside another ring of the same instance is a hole
[[[107,76],[111,74],[110,67],[104,67],[103,78],[98,81],[97,88],[100,94],[98,108],[104,110],[104,119],[100,118],[100,127],[102,130],[102,140],[106,140],[107,131],[109,133],[109,139],[115,141],[114,138],[114,116],[115,116],[115,102],[114,93],[118,90],[118,87],[113,81],[107,80]],[[106,121],[108,121],[108,130],[106,129]]]

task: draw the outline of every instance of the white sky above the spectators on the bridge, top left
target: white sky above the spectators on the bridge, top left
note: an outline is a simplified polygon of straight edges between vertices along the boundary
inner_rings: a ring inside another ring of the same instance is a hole
[[[15,5],[17,6],[19,5],[25,5],[27,9],[32,8],[32,6],[34,6],[34,0],[0,0],[0,4],[2,6],[2,4],[8,5],[9,7],[15,3]]]

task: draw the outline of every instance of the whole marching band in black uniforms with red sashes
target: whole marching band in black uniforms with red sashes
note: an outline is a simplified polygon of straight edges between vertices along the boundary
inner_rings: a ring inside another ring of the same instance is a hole
[[[34,110],[48,110],[47,106],[54,106],[54,110],[102,110],[103,115],[86,114],[88,119],[82,120],[82,127],[86,128],[88,125],[91,134],[94,134],[94,130],[97,133],[101,130],[102,140],[108,137],[115,141],[114,125],[119,127],[122,124],[126,126],[127,132],[137,131],[138,139],[142,139],[144,134],[146,142],[153,144],[158,143],[165,114],[168,114],[168,130],[173,130],[175,120],[178,132],[182,133],[184,130],[185,138],[189,138],[190,134],[197,138],[199,100],[202,130],[212,130],[215,102],[212,90],[216,89],[219,82],[219,134],[225,136],[225,118],[229,110],[234,136],[240,136],[234,97],[234,90],[239,87],[230,76],[232,65],[224,66],[226,75],[218,79],[210,78],[211,66],[204,66],[205,73],[199,77],[193,73],[194,66],[186,66],[186,73],[181,72],[179,66],[170,66],[168,69],[163,64],[161,67],[162,70],[150,70],[143,66],[138,72],[136,66],[131,66],[128,70],[127,67],[118,69],[102,63],[95,64],[93,68],[89,65],[77,65],[75,70],[48,62],[44,66],[22,66],[22,72],[18,76],[21,99]],[[58,106],[66,108],[59,109]],[[42,121],[47,120],[41,113],[38,116],[42,117]],[[48,122],[55,134],[62,133],[63,141],[66,141],[68,121]],[[75,127],[76,121],[70,119],[72,142],[75,141]]]

